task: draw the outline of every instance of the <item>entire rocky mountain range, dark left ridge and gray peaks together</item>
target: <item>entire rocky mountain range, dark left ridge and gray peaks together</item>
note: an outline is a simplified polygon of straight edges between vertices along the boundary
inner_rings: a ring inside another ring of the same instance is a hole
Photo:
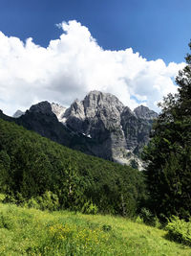
[[[140,105],[134,111],[110,93],[91,91],[66,108],[42,102],[14,122],[42,136],[88,154],[141,169],[139,153],[149,141],[158,114]]]

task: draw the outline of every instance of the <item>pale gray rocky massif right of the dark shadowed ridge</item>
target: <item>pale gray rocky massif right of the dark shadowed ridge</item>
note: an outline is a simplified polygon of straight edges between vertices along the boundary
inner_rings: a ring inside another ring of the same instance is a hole
[[[60,121],[74,132],[92,138],[97,156],[129,164],[139,162],[138,154],[148,143],[153,120],[158,114],[140,105],[134,111],[116,96],[90,92],[83,101],[75,100]]]

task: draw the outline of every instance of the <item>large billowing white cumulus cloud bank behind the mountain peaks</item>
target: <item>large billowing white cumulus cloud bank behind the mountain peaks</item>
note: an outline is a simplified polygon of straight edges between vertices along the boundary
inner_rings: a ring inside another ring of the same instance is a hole
[[[91,90],[115,94],[131,108],[139,103],[157,110],[175,92],[174,79],[184,63],[147,61],[131,48],[106,51],[88,28],[75,20],[59,24],[62,35],[47,48],[0,32],[0,108],[7,114],[48,100],[71,105]]]

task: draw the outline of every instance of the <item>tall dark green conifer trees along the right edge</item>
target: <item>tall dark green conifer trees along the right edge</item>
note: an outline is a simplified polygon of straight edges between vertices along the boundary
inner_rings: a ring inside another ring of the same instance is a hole
[[[190,45],[191,46],[191,45]],[[191,213],[191,66],[177,77],[178,93],[168,95],[143,158],[154,214],[189,219]]]

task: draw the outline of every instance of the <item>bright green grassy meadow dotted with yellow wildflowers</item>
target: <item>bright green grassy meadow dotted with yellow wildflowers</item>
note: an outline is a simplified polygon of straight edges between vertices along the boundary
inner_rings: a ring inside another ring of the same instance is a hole
[[[166,231],[124,218],[43,212],[0,203],[0,255],[186,256]]]

